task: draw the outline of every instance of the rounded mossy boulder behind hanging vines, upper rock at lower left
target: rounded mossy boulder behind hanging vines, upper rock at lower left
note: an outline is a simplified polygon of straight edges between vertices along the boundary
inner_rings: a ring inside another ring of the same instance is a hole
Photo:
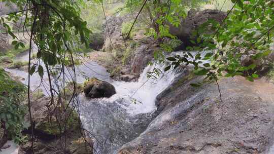
[[[41,95],[41,94],[39,94]],[[42,140],[51,140],[58,135],[62,135],[64,131],[73,131],[80,128],[78,115],[71,107],[66,107],[64,100],[60,100],[60,104],[51,104],[49,97],[39,96],[36,98],[36,92],[31,96],[31,113],[32,122],[34,125],[35,135]],[[58,102],[57,98],[54,98],[54,103]],[[30,123],[29,116],[25,116],[25,120]],[[66,128],[64,129],[64,125]],[[30,133],[30,128],[25,130],[26,133]]]

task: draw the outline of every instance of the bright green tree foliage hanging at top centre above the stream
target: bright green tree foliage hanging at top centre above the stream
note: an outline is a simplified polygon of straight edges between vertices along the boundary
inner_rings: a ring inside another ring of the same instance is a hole
[[[169,33],[169,24],[178,27],[181,24],[181,19],[186,17],[186,11],[189,8],[198,8],[201,3],[205,1],[147,1],[142,15],[141,22],[147,25],[147,28],[153,28],[149,30],[149,34],[154,36],[159,41],[163,37],[175,38]],[[125,9],[129,12],[138,12],[143,5],[143,1],[138,0],[126,0]]]

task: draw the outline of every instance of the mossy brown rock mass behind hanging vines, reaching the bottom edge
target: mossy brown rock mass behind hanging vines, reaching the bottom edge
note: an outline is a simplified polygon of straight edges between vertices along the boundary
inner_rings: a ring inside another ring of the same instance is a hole
[[[54,99],[54,104],[50,105],[50,100],[48,97],[42,97],[31,101],[30,104],[35,127],[35,140],[33,141],[35,153],[52,154],[60,151],[61,153],[84,154],[85,151],[92,154],[93,141],[89,137],[83,138],[87,136],[84,135],[87,133],[81,127],[78,114],[70,106],[64,111],[60,105],[55,103],[57,99]],[[25,119],[29,122],[28,115]],[[31,129],[24,130],[23,134],[30,136]],[[64,147],[66,147],[65,150]],[[32,153],[30,137],[20,144],[18,154],[29,153]]]

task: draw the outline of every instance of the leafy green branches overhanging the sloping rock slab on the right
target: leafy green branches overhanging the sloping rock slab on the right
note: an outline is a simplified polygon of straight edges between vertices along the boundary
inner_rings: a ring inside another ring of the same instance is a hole
[[[195,32],[200,37],[199,47],[188,47],[189,50],[209,50],[203,58],[200,52],[192,55],[185,52],[167,60],[172,61],[176,68],[181,63],[193,64],[196,75],[206,75],[205,79],[218,80],[218,76],[245,75],[247,80],[253,81],[259,77],[258,61],[271,63],[266,57],[271,52],[274,29],[273,1],[232,1],[235,8],[220,25],[214,20],[202,24]],[[215,31],[209,33],[208,31]],[[201,42],[202,40],[202,42]],[[243,65],[241,58],[251,57],[251,63]],[[202,60],[212,60],[212,64],[203,64]]]

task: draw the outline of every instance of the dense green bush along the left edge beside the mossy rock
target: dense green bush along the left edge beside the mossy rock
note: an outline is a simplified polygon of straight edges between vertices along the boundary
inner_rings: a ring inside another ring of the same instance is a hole
[[[12,80],[0,68],[0,121],[2,127],[8,131],[8,136],[17,143],[24,139],[21,131],[25,128],[26,107],[22,104],[25,89],[23,84]]]

